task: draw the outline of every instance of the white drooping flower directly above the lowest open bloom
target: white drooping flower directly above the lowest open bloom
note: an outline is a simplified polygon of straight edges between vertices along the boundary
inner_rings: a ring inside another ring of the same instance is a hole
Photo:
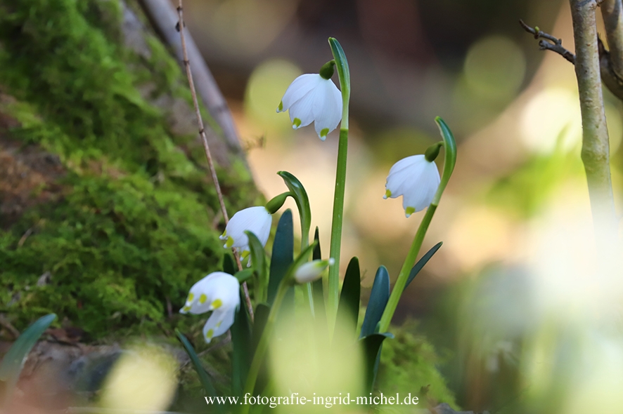
[[[262,242],[262,246],[266,246],[271,232],[272,219],[271,213],[264,206],[245,208],[233,215],[219,239],[225,241],[224,248],[235,247],[240,251],[243,259],[247,258],[250,250],[249,238],[245,231],[255,234]]]

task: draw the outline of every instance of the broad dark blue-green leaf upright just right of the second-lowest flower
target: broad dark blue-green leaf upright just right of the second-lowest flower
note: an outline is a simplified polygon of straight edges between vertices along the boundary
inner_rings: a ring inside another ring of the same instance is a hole
[[[288,272],[288,268],[294,261],[294,232],[292,223],[292,211],[286,210],[277,225],[275,233],[275,241],[273,243],[273,254],[271,257],[271,269],[268,283],[268,302],[270,305],[275,300],[279,283]],[[288,302],[294,301],[294,289],[292,289],[292,298],[288,298]],[[285,300],[284,300],[285,302]]]

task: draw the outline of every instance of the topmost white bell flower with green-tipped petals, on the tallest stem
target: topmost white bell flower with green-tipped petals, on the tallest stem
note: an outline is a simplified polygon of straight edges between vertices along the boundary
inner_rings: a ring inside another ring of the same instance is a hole
[[[293,128],[308,126],[313,121],[318,137],[324,141],[342,119],[342,93],[331,79],[303,74],[288,86],[277,112],[288,109]]]

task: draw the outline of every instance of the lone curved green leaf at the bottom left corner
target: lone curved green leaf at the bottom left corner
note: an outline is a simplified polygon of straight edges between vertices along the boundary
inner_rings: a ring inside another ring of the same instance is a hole
[[[15,384],[20,379],[20,373],[24,368],[30,350],[37,343],[41,334],[50,326],[50,324],[56,319],[56,314],[47,314],[41,316],[41,318],[34,321],[31,326],[19,336],[8,352],[4,355],[2,362],[0,363],[0,380],[6,382],[4,392],[4,402],[8,403],[13,393]]]

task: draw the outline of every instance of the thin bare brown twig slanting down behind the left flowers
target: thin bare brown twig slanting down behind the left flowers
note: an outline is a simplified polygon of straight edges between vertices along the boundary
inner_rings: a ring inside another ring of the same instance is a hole
[[[219,178],[217,177],[217,171],[214,169],[214,161],[212,161],[212,153],[210,152],[210,145],[207,143],[207,136],[205,135],[205,127],[203,125],[203,118],[201,116],[201,112],[199,109],[199,102],[197,100],[197,93],[195,91],[195,82],[193,81],[193,73],[191,72],[191,62],[188,60],[188,51],[186,49],[186,36],[185,25],[184,25],[184,7],[182,5],[182,0],[178,0],[177,6],[177,29],[179,30],[179,37],[181,40],[181,50],[182,56],[184,58],[184,67],[186,68],[186,77],[188,77],[188,86],[191,88],[191,95],[193,96],[193,105],[195,107],[195,115],[197,116],[197,122],[199,124],[199,135],[201,135],[201,140],[203,142],[203,149],[205,150],[205,157],[207,158],[207,165],[210,167],[210,174],[212,174],[212,181],[214,182],[214,187],[217,190],[217,196],[219,198],[219,205],[221,206],[221,213],[223,214],[223,219],[225,224],[229,222],[229,215],[227,215],[227,209],[225,207],[225,202],[223,199],[223,193],[221,192],[221,185],[219,185]],[[243,266],[240,263],[240,257],[238,256],[238,252],[235,249],[232,249],[233,257],[236,258],[236,264],[238,265],[238,269],[242,270]],[[251,320],[253,320],[253,305],[251,304],[251,298],[249,296],[249,289],[247,287],[247,283],[243,282],[243,291],[245,293],[245,301],[247,302],[247,308],[249,310],[249,316]]]

